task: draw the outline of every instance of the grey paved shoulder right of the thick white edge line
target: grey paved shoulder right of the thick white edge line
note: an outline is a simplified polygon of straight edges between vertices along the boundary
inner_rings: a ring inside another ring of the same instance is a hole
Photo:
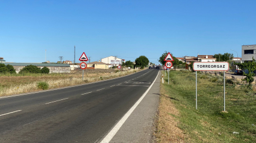
[[[151,142],[154,133],[154,119],[157,115],[160,77],[152,85],[142,102],[120,127],[110,142]]]

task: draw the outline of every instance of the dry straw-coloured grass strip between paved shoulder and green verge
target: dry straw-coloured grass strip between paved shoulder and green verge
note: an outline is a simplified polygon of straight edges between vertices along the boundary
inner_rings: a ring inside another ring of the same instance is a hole
[[[178,127],[180,116],[178,109],[174,107],[170,96],[161,88],[160,104],[158,107],[156,142],[184,142],[183,130]]]

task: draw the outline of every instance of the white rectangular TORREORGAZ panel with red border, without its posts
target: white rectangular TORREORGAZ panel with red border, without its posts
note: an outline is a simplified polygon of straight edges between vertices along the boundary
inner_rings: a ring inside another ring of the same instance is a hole
[[[194,71],[228,71],[228,62],[194,62]]]

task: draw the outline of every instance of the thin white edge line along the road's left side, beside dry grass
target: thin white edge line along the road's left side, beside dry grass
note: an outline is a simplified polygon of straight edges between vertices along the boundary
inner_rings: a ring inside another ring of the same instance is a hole
[[[139,71],[139,72],[142,72],[142,71]],[[137,74],[139,72],[134,72],[133,74]],[[129,75],[133,75],[133,74],[129,74]],[[129,75],[125,75],[125,76],[122,76],[122,77],[127,77]],[[117,78],[122,78],[122,77],[117,77]],[[112,78],[112,79],[109,79],[109,80],[115,80],[117,78]],[[80,85],[76,85],[76,86],[84,86],[84,85],[87,85],[87,84],[101,83],[103,81],[108,81],[108,80],[96,81],[96,82],[93,82],[93,83],[80,84]],[[40,92],[24,93],[24,94],[21,94],[21,95],[31,95],[31,94],[34,94],[34,93],[49,92],[49,91],[52,91],[52,90],[67,89],[67,88],[76,87],[76,86],[67,86],[67,87],[61,87],[61,88],[58,88],[58,89],[43,90],[43,91],[40,91]],[[21,96],[21,95],[5,96],[5,97],[1,97],[0,99],[2,99],[2,98],[11,98],[11,97]]]

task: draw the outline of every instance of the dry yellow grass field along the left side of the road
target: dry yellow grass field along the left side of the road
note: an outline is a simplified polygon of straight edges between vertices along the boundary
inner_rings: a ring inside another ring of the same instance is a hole
[[[136,70],[136,72],[138,71],[141,71],[141,69]],[[37,83],[39,83],[39,81],[45,81],[49,84],[49,89],[55,89],[59,87],[75,86],[78,84],[122,77],[124,75],[133,74],[134,72],[134,70],[130,70],[116,73],[84,74],[84,81],[82,80],[82,74],[54,74],[54,76],[51,74],[42,76],[1,76],[0,96],[39,91],[40,89],[37,87]]]

